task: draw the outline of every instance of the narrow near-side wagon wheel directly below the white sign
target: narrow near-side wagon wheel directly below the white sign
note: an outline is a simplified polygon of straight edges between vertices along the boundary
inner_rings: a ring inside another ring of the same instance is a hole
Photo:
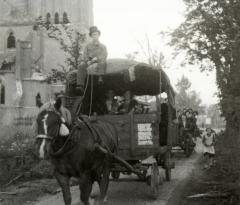
[[[152,164],[150,177],[151,194],[154,199],[157,199],[159,195],[159,187],[161,180],[157,163]]]

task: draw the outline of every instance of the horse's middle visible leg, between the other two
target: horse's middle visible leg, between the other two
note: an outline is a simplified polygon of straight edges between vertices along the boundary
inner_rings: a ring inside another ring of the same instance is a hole
[[[93,180],[90,174],[82,174],[79,179],[79,188],[80,188],[80,199],[84,205],[89,205],[89,197],[92,192]]]

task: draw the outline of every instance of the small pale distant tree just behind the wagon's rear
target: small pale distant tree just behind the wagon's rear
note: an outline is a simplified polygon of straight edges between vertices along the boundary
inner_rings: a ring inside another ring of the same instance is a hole
[[[192,108],[193,110],[201,109],[201,99],[196,91],[190,90],[191,82],[185,76],[178,80],[176,93],[177,109]]]

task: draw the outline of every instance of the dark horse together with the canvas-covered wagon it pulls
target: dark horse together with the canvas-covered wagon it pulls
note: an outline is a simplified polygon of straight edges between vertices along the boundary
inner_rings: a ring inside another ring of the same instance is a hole
[[[110,172],[114,179],[120,173],[136,174],[150,185],[156,198],[159,166],[169,181],[174,165],[176,112],[167,75],[147,64],[111,60],[105,75],[88,75],[85,85],[83,95],[76,96],[76,85],[69,84],[65,100],[58,97],[37,116],[36,148],[40,158],[51,159],[65,204],[71,205],[71,177],[79,178],[85,205],[89,205],[94,181],[99,183],[103,202]],[[162,102],[164,92],[167,99]],[[71,110],[73,123],[64,118],[68,111],[62,104]]]

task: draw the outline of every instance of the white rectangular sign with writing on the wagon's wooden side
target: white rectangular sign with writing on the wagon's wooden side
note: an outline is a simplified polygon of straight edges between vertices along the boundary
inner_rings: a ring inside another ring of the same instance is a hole
[[[151,123],[138,124],[137,128],[138,128],[138,145],[153,145],[152,124]]]

